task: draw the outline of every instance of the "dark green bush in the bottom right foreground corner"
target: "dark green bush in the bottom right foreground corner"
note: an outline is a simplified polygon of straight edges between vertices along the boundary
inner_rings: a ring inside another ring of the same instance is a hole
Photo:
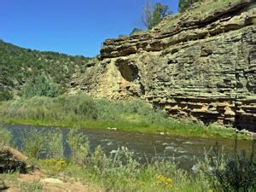
[[[236,137],[232,154],[221,152],[216,143],[212,154],[207,156],[203,172],[216,191],[253,191],[256,189],[255,157],[255,141],[247,154],[244,150],[238,151]]]

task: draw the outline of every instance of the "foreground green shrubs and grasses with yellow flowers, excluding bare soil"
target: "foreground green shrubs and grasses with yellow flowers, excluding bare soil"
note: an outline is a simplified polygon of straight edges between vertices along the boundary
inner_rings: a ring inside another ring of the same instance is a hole
[[[31,131],[31,134],[38,134],[38,137],[47,134],[47,131]],[[49,138],[61,134],[49,132]],[[27,140],[34,140],[29,137]],[[2,137],[0,135],[0,137]],[[84,137],[84,136],[83,136]],[[78,139],[76,139],[78,138]],[[179,169],[174,161],[151,160],[150,163],[139,163],[131,150],[125,147],[118,148],[114,154],[105,154],[102,147],[98,146],[90,150],[88,140],[80,139],[79,131],[69,133],[69,145],[72,151],[67,160],[64,159],[44,159],[35,156],[31,157],[33,163],[41,170],[44,170],[51,177],[76,178],[84,184],[103,186],[103,189],[110,191],[253,191],[256,184],[256,159],[252,147],[250,154],[241,152],[239,155],[236,146],[233,154],[224,154],[216,148],[212,152],[206,153],[206,160],[199,161],[196,166],[197,172],[191,173]],[[84,137],[85,138],[85,137]],[[237,140],[236,140],[237,142]],[[30,142],[33,143],[33,142]],[[73,143],[73,142],[71,142]],[[255,142],[253,143],[254,146]],[[55,139],[44,140],[44,146],[55,145]],[[58,143],[61,147],[61,143]],[[46,154],[51,153],[48,150]],[[84,154],[84,151],[86,153]],[[215,153],[218,151],[217,153]],[[23,151],[31,154],[30,148]],[[213,155],[214,154],[214,155]],[[48,156],[48,155],[46,155]],[[76,161],[79,160],[79,161]],[[232,165],[235,165],[233,167]],[[230,172],[230,167],[233,171]],[[238,169],[236,169],[238,168]],[[241,181],[233,183],[232,179],[226,180],[219,177],[219,173],[228,174],[231,178],[239,178]],[[7,179],[3,177],[3,179]],[[229,188],[223,184],[229,183]],[[42,189],[40,183],[22,183],[22,189]],[[228,190],[226,190],[228,189]],[[232,190],[234,189],[234,190]]]

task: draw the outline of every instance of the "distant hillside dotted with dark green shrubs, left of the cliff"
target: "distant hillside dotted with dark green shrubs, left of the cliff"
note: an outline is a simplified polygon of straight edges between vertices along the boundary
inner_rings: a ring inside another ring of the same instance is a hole
[[[44,74],[53,84],[65,89],[67,81],[76,70],[90,59],[84,56],[69,56],[55,52],[23,49],[0,41],[0,101],[20,94],[23,85],[33,82]]]

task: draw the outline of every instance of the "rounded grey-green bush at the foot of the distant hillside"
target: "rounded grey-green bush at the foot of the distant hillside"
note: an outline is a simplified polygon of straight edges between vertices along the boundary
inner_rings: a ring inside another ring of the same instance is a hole
[[[26,98],[31,98],[33,96],[55,97],[59,96],[60,93],[60,85],[55,84],[53,79],[50,79],[45,75],[29,79],[21,90],[22,96],[25,96]]]

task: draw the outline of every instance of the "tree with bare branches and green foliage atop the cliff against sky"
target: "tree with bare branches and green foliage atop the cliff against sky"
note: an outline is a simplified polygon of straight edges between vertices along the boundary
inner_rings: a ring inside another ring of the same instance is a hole
[[[151,0],[148,0],[143,9],[143,24],[152,29],[154,26],[160,23],[160,21],[166,16],[172,14],[169,11],[168,5],[162,5],[162,3],[156,3],[152,6]]]

